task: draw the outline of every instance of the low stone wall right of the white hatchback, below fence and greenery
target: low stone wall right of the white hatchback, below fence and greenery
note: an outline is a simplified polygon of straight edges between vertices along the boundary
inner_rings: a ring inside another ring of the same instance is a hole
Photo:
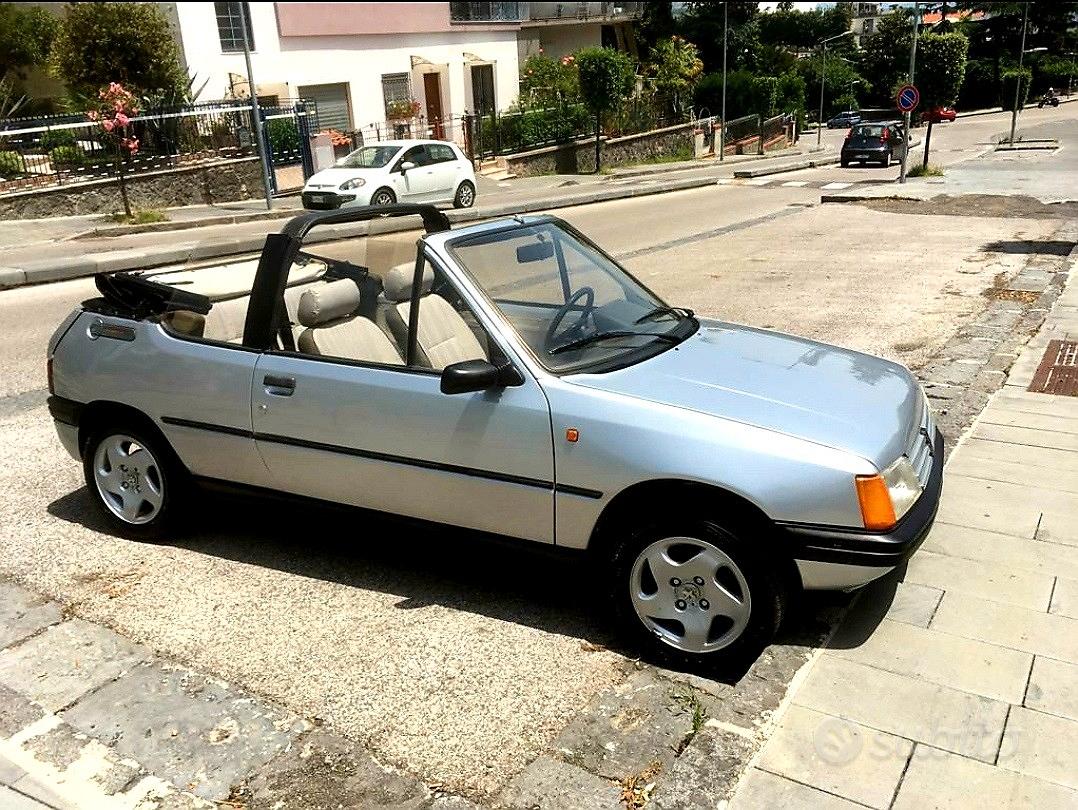
[[[652,129],[639,135],[603,139],[603,166],[676,155],[692,155],[692,124]],[[506,168],[521,177],[535,175],[582,175],[595,170],[595,138],[559,143],[506,156]]]

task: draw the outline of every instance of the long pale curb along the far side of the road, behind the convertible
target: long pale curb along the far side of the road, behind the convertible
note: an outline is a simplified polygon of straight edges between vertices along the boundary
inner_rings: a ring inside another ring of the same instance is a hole
[[[672,191],[686,191],[699,189],[706,186],[715,186],[716,178],[685,178],[681,180],[667,180],[648,186],[597,189],[583,194],[569,197],[539,197],[527,202],[503,203],[501,205],[487,206],[471,209],[450,209],[446,215],[451,222],[474,222],[494,217],[512,216],[514,214],[533,214],[542,210],[556,210],[558,208],[572,208],[580,205],[591,205],[593,203],[605,203],[612,200],[627,200],[638,196],[651,196],[653,194],[665,194]],[[266,211],[268,214],[270,211]],[[259,212],[261,214],[261,211]],[[291,216],[299,216],[300,210],[290,211]],[[363,223],[359,223],[363,224]],[[336,226],[322,229],[321,238],[317,232],[308,238],[309,243],[330,242],[347,236],[358,235],[365,232],[365,229],[337,230]],[[0,266],[0,289],[23,287],[31,284],[45,284],[50,282],[63,282],[71,278],[83,278],[96,275],[97,273],[115,273],[124,270],[147,270],[158,267],[165,264],[176,264],[179,262],[216,259],[225,256],[238,256],[241,253],[254,253],[262,249],[265,243],[265,235],[246,236],[238,238],[221,238],[217,244],[199,245],[192,249],[190,245],[175,248],[163,248],[148,252],[146,248],[113,250],[93,256],[71,257],[63,259],[47,259],[41,262],[29,262],[24,267]]]

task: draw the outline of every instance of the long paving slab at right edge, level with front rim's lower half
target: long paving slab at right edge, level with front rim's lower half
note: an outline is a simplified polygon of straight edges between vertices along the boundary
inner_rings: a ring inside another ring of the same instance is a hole
[[[948,592],[929,627],[1078,663],[1078,619]]]

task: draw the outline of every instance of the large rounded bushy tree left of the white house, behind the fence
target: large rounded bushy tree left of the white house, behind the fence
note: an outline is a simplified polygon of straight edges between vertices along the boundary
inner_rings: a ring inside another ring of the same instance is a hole
[[[188,77],[157,3],[69,3],[50,55],[75,98],[119,82],[136,95],[182,97]]]

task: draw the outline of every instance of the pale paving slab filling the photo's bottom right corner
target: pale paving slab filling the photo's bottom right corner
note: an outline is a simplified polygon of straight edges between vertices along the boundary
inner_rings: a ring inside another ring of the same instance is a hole
[[[895,810],[986,807],[1063,810],[1074,806],[1074,793],[1051,782],[917,745],[894,807]]]

